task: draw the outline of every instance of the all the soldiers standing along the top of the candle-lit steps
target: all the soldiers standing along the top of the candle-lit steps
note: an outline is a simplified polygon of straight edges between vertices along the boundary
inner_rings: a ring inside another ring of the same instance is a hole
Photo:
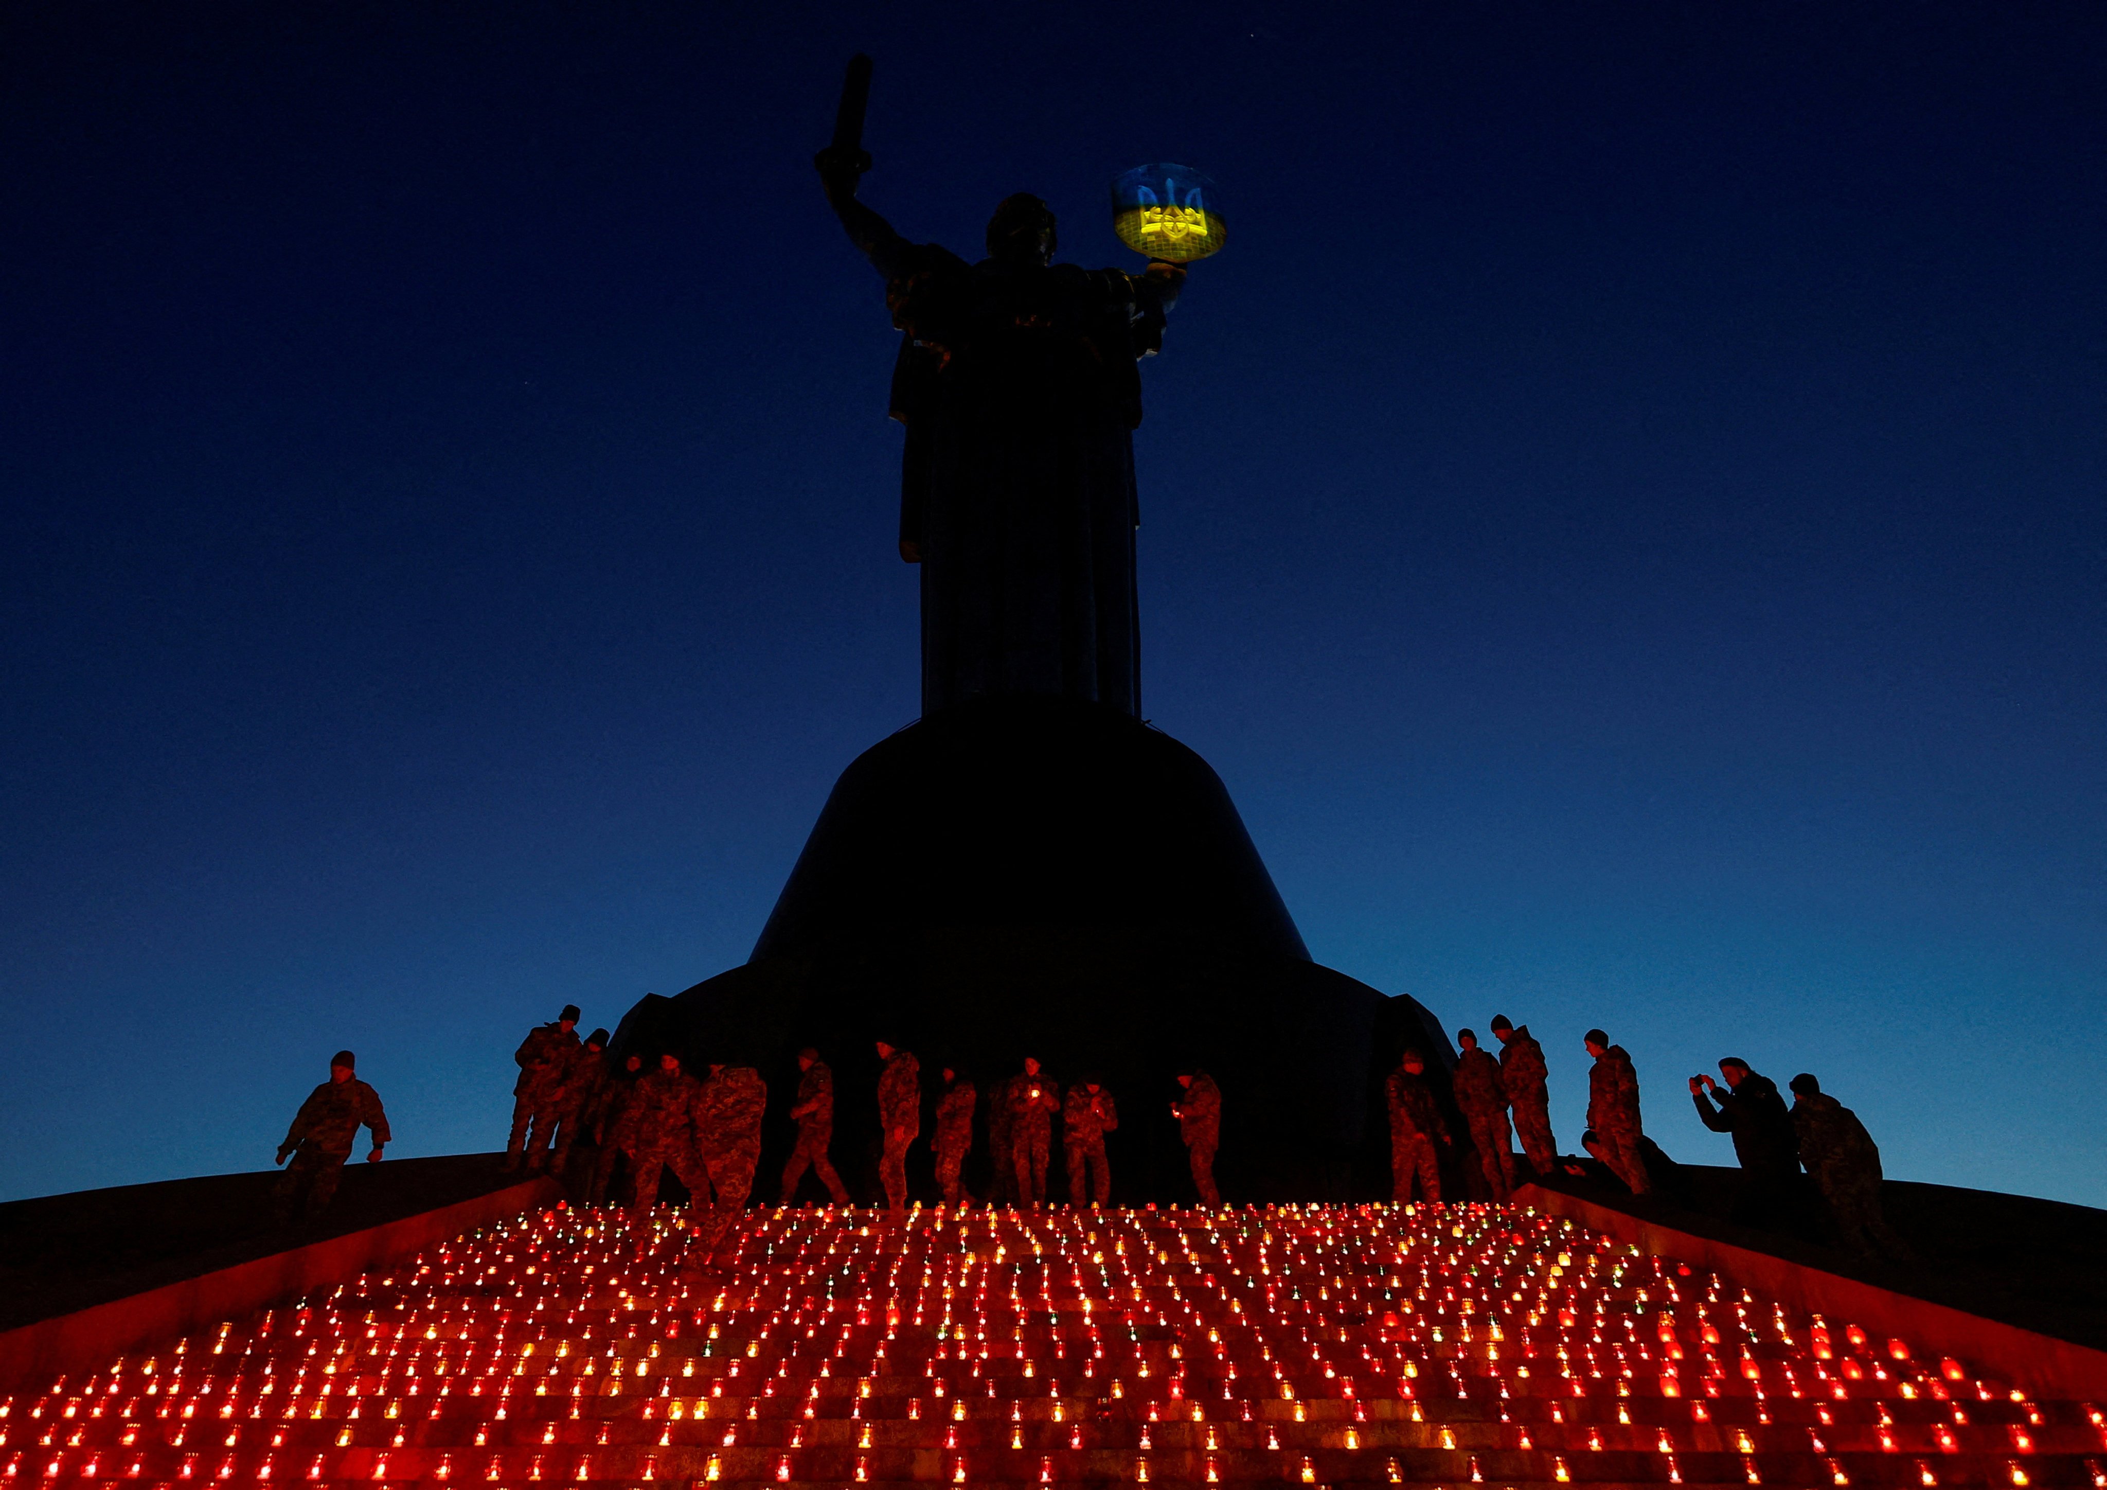
[[[525,1163],[527,1170],[563,1174],[573,1140],[586,1134],[592,1165],[582,1184],[590,1203],[607,1201],[615,1168],[626,1159],[630,1214],[641,1218],[657,1201],[659,1178],[670,1168],[693,1195],[695,1214],[704,1216],[697,1231],[714,1246],[752,1195],[767,1081],[752,1066],[733,1064],[710,1064],[708,1075],[697,1079],[681,1069],[674,1054],[659,1056],[653,1071],[645,1071],[643,1056],[632,1054],[613,1071],[607,1062],[607,1031],[596,1028],[579,1039],[577,1020],[577,1005],[565,1005],[554,1020],[529,1031],[514,1052],[520,1075],[512,1087],[506,1168],[518,1170]],[[1525,1024],[1515,1026],[1504,1014],[1490,1028],[1500,1043],[1498,1056],[1479,1047],[1475,1031],[1456,1033],[1460,1054],[1448,1081],[1454,1109],[1445,1106],[1439,1085],[1429,1079],[1424,1052],[1405,1050],[1389,1075],[1384,1098],[1393,1199],[1439,1201],[1443,1159],[1452,1159],[1452,1172],[1462,1172],[1469,1191],[1511,1199],[1517,1184],[1515,1136],[1521,1138],[1521,1157],[1536,1178],[1551,1176],[1557,1168],[1582,1172],[1559,1159],[1551,1136],[1542,1045]],[[1593,1069],[1580,1144],[1624,1189],[1648,1195],[1673,1174],[1675,1163],[1646,1136],[1631,1054],[1612,1045],[1599,1028],[1589,1031],[1582,1045]],[[906,1153],[921,1134],[921,1062],[887,1041],[877,1043],[877,1054],[883,1132],[879,1180],[887,1208],[900,1212],[908,1199]],[[358,1079],[352,1052],[339,1050],[329,1064],[329,1081],[301,1102],[278,1146],[278,1163],[293,1159],[274,1193],[280,1222],[291,1220],[295,1210],[312,1220],[329,1205],[360,1125],[373,1134],[369,1161],[377,1161],[388,1144],[388,1115],[373,1087]],[[847,1205],[849,1191],[828,1157],[834,1136],[834,1073],[809,1047],[799,1052],[796,1064],[799,1085],[790,1106],[796,1140],[782,1172],[782,1203],[794,1199],[809,1170],[836,1205]],[[1171,1102],[1171,1115],[1186,1144],[1193,1187],[1203,1205],[1220,1205],[1214,1157],[1222,1138],[1222,1090],[1199,1069],[1180,1073],[1178,1085],[1182,1096]],[[1827,1201],[1844,1246],[1907,1258],[1909,1246],[1882,1214],[1879,1149],[1871,1134],[1812,1075],[1793,1077],[1789,1087],[1791,1109],[1770,1077],[1751,1071],[1736,1056],[1719,1062],[1719,1081],[1690,1077],[1690,1096],[1702,1123],[1734,1138],[1745,1174],[1736,1218],[1774,1224],[1789,1216],[1806,1170]],[[963,1168],[973,1146],[980,1100],[971,1081],[950,1066],[942,1069],[929,1146],[938,1189],[952,1208],[967,1199]],[[1022,1071],[988,1090],[986,1104],[992,1184],[982,1199],[997,1205],[1045,1201],[1058,1115],[1070,1203],[1108,1203],[1112,1172],[1104,1136],[1119,1128],[1119,1106],[1096,1077],[1072,1081],[1064,1092],[1037,1058],[1026,1058]],[[1460,1134],[1452,1132],[1448,1111],[1462,1119]]]

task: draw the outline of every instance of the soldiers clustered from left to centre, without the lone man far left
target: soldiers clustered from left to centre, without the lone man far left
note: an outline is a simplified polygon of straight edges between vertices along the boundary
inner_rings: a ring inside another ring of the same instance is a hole
[[[586,1182],[590,1203],[607,1199],[615,1165],[628,1159],[636,1216],[657,1201],[659,1176],[672,1170],[695,1197],[708,1199],[710,1220],[702,1224],[714,1241],[746,1208],[754,1168],[761,1159],[761,1121],[767,1111],[767,1081],[752,1066],[712,1064],[697,1081],[681,1069],[681,1058],[664,1054],[657,1071],[645,1073],[643,1058],[630,1056],[624,1071],[607,1066],[607,1031],[577,1039],[577,1005],[527,1033],[514,1060],[520,1075],[512,1087],[512,1136],[506,1165],[565,1172],[571,1142],[586,1134],[594,1146]],[[889,1041],[877,1041],[877,1106],[883,1149],[879,1182],[889,1210],[908,1199],[906,1153],[921,1136],[921,1062]],[[782,1199],[790,1203],[799,1182],[811,1172],[836,1205],[849,1191],[828,1155],[834,1136],[834,1073],[818,1050],[801,1050],[796,1098],[790,1121],[796,1138],[782,1174]],[[1205,1071],[1178,1075],[1182,1098],[1171,1102],[1193,1168],[1201,1203],[1220,1205],[1214,1184],[1214,1155],[1222,1136],[1222,1090]],[[936,1098],[938,1189],[944,1203],[965,1201],[963,1170],[973,1146],[973,1117],[982,1102],[971,1081],[942,1069]],[[1068,1199],[1075,1205],[1104,1205],[1112,1195],[1112,1170],[1104,1136],[1119,1128],[1119,1106],[1096,1077],[1072,1081],[1066,1092],[1026,1058],[1022,1071],[995,1083],[986,1094],[992,1187],[990,1203],[1043,1203],[1047,1163],[1054,1153],[1054,1119],[1060,1117],[1066,1149]]]

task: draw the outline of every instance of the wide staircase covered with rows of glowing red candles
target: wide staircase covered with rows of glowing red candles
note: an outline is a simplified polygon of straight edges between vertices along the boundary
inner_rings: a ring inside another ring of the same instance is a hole
[[[1521,1205],[556,1208],[0,1404],[8,1486],[2092,1486],[2107,1418]]]

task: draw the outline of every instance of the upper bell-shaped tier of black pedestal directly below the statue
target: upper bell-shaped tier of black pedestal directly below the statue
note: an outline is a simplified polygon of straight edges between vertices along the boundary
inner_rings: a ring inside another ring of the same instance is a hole
[[[936,927],[1188,932],[1308,959],[1222,778],[1098,704],[990,698],[860,754],[754,961]]]

